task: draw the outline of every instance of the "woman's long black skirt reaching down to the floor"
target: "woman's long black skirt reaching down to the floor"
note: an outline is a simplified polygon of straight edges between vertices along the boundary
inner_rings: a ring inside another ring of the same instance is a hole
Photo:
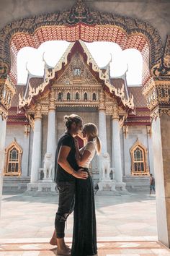
[[[88,168],[84,168],[89,173]],[[88,179],[76,179],[76,201],[74,208],[73,244],[71,256],[97,254],[97,229],[94,205],[94,189]]]

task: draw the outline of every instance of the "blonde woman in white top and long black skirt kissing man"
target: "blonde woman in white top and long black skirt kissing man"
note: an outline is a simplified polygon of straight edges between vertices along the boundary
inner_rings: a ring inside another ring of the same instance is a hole
[[[84,124],[83,137],[87,143],[79,150],[76,144],[76,160],[81,168],[89,174],[89,164],[95,152],[100,153],[101,142],[95,124]],[[97,255],[97,230],[94,206],[94,190],[91,176],[86,180],[76,179],[76,202],[74,208],[73,244],[71,256]]]

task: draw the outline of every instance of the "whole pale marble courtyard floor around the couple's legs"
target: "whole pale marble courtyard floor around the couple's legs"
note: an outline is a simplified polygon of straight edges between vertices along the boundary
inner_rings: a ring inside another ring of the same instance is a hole
[[[155,196],[96,196],[98,256],[169,255],[157,242]],[[0,221],[0,256],[50,256],[56,197],[4,195]],[[66,242],[71,246],[73,215]]]

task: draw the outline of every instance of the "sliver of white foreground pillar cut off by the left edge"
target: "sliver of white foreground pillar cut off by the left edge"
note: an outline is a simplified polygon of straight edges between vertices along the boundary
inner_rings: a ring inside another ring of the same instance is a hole
[[[6,119],[2,119],[0,114],[0,216],[1,216],[1,195],[3,187],[3,172],[4,172],[4,147],[6,137]]]

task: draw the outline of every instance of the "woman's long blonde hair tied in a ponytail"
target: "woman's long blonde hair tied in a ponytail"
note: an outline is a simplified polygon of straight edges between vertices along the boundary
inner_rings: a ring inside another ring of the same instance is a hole
[[[84,124],[83,129],[84,129],[84,132],[86,132],[86,135],[88,135],[89,137],[92,137],[95,140],[97,155],[99,155],[99,153],[101,152],[102,143],[98,136],[97,126],[93,123],[88,123],[88,124]]]

